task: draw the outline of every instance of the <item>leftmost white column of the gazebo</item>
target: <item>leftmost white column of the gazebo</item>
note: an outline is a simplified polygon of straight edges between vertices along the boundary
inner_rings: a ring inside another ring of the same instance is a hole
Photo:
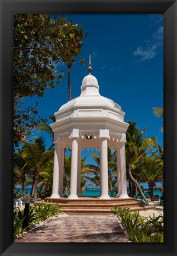
[[[60,155],[60,143],[56,141],[54,144],[54,165],[53,165],[53,185],[52,195],[53,198],[59,198],[59,155]]]

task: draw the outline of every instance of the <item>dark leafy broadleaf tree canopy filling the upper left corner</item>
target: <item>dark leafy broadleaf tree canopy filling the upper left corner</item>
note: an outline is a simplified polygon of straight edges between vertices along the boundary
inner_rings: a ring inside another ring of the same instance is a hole
[[[55,64],[60,60],[74,62],[81,53],[83,38],[81,25],[58,15],[54,18],[50,14],[14,15],[15,146],[41,121],[36,118],[37,103],[21,109],[25,98],[43,97],[45,89],[59,84],[64,71],[56,71]]]

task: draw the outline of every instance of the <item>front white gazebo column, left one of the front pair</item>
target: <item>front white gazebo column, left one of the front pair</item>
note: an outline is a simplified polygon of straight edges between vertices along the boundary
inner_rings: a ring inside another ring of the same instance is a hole
[[[70,195],[69,199],[78,199],[77,195],[77,172],[78,172],[78,141],[72,141],[71,175],[70,175]]]

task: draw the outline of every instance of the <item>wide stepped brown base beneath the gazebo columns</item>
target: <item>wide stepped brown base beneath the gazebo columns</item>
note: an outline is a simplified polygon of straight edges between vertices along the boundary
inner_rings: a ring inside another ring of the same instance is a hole
[[[57,203],[60,209],[68,215],[111,215],[114,206],[127,207],[131,210],[155,210],[155,206],[147,206],[144,202],[136,201],[134,198],[101,199],[99,197],[79,197],[79,199],[44,198],[44,202]]]

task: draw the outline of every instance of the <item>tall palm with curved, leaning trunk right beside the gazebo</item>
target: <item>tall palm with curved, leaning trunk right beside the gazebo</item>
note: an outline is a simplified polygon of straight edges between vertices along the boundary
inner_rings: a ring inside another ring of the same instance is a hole
[[[129,127],[126,133],[127,143],[125,144],[128,175],[130,176],[131,181],[137,185],[141,196],[147,203],[139,182],[137,182],[132,174],[132,170],[135,169],[139,165],[140,161],[146,156],[146,150],[149,147],[157,146],[156,137],[144,138],[144,131],[146,128],[141,131],[136,126],[136,122],[128,121],[128,124]]]

